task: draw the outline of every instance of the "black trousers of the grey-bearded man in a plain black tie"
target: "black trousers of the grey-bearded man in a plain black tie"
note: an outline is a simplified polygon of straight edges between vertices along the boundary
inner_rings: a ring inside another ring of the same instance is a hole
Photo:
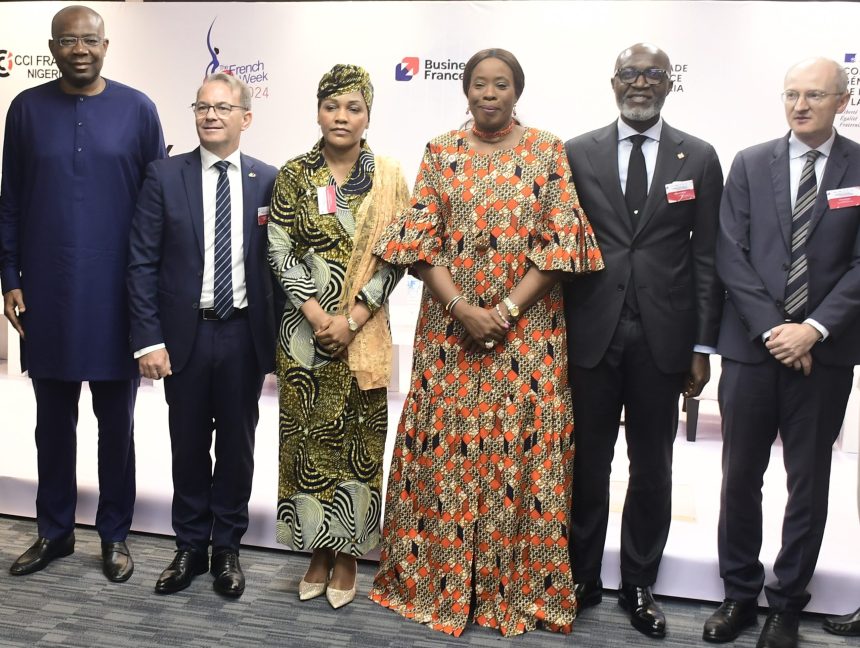
[[[591,369],[571,366],[570,379],[576,440],[570,530],[574,577],[600,577],[609,474],[623,407],[630,477],[621,519],[621,579],[651,585],[672,519],[672,446],[684,374],[657,368],[641,321],[625,308],[600,363]]]

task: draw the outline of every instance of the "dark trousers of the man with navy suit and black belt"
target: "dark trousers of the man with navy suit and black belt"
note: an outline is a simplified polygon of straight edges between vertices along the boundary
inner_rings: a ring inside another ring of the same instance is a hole
[[[239,550],[248,528],[264,378],[247,319],[201,321],[188,363],[165,378],[179,549],[206,553],[211,538],[214,551]]]

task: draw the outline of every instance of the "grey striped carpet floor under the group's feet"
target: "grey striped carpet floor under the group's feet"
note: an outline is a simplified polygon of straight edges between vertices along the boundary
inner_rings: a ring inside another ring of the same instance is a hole
[[[359,596],[345,608],[332,610],[325,598],[301,603],[298,581],[306,567],[301,554],[243,548],[241,559],[248,585],[233,601],[212,590],[211,576],[197,577],[191,587],[171,596],[153,593],[161,570],[173,556],[170,538],[132,534],[128,544],[135,560],[127,583],[109,583],[101,574],[99,539],[91,528],[76,530],[75,553],[30,576],[13,577],[8,566],[33,541],[32,520],[0,516],[0,646],[71,646],[169,648],[212,646],[301,646],[307,648],[482,646],[538,648],[630,648],[633,646],[708,646],[702,624],[712,603],[663,600],[669,634],[662,642],[633,630],[618,608],[614,593],[603,604],[585,610],[571,635],[537,630],[504,638],[470,625],[455,639],[370,602],[366,593],[375,564],[359,566]],[[860,593],[858,593],[860,598]],[[860,601],[858,601],[860,602]],[[850,606],[853,606],[851,602]],[[760,615],[759,623],[764,621]],[[761,627],[759,625],[759,627]],[[757,630],[735,644],[755,646]],[[801,646],[857,646],[860,639],[842,639],[821,629],[821,618],[804,617]]]

